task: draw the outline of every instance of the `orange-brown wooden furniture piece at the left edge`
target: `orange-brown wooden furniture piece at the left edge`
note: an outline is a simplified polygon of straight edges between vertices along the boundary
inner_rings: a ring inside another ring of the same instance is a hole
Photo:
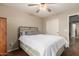
[[[7,19],[0,17],[0,55],[7,53]]]

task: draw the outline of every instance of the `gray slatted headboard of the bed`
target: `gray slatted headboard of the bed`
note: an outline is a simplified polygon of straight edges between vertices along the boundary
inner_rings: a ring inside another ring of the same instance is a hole
[[[20,36],[23,31],[25,31],[25,32],[39,32],[38,27],[20,26],[18,35]]]

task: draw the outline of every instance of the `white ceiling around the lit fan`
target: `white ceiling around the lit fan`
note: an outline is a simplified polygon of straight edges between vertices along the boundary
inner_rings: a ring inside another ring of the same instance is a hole
[[[55,15],[71,8],[78,8],[78,3],[55,3],[55,4],[48,4],[48,7],[52,10],[52,12],[48,12],[45,10],[41,10],[39,13],[36,13],[37,8],[33,6],[27,6],[27,3],[4,3],[7,6],[13,6],[18,9],[23,10],[24,12],[28,12],[30,14],[36,15],[38,17],[47,17],[50,15]]]

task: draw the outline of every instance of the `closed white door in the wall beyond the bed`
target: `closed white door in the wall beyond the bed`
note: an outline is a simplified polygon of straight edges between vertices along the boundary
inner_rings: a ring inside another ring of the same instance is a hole
[[[59,35],[59,20],[51,19],[46,21],[47,34]]]

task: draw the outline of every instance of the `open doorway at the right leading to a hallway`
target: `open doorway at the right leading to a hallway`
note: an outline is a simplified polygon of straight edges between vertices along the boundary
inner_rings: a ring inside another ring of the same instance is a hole
[[[79,15],[69,17],[69,39],[70,46],[79,44]]]

